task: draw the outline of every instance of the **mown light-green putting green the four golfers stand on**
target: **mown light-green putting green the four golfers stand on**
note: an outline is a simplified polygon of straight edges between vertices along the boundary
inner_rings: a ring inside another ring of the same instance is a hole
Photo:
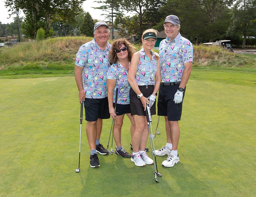
[[[179,123],[180,163],[165,168],[166,157],[157,157],[160,183],[153,165],[137,167],[115,154],[99,155],[100,168],[91,168],[85,120],[75,172],[80,104],[73,76],[0,79],[0,196],[255,196],[255,76],[192,71]],[[110,126],[103,121],[105,148]],[[126,117],[122,143],[131,153],[129,126]],[[166,143],[163,117],[159,131],[156,149]]]

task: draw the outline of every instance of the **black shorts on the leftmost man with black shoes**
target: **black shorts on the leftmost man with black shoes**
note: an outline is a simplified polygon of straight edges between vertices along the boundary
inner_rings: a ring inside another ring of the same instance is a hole
[[[108,109],[108,97],[106,98],[85,98],[84,100],[85,120],[96,121],[110,118]]]

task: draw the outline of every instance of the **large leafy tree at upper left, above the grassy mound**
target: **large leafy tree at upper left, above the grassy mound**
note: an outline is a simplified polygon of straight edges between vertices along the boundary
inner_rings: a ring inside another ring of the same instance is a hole
[[[46,36],[53,20],[72,23],[81,10],[82,0],[5,0],[9,11],[22,10],[25,14],[24,33],[35,39],[36,31],[43,27]]]

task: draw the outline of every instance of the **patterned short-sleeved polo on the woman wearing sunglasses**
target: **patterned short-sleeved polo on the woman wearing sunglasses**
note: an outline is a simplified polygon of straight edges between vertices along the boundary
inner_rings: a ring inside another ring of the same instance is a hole
[[[116,88],[120,85],[120,90],[117,98],[117,104],[128,105],[130,104],[129,92],[131,89],[130,84],[127,80],[128,70],[124,68],[119,62],[117,64],[112,64],[107,73],[108,79],[116,79],[116,86],[114,89],[113,103],[116,100]]]

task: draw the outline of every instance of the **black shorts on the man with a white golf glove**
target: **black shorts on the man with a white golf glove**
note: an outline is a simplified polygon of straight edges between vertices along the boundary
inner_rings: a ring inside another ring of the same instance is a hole
[[[158,101],[157,101],[157,115],[167,116],[169,121],[177,121],[181,118],[182,103],[185,96],[186,87],[183,92],[182,102],[175,104],[174,94],[177,92],[180,84],[175,85],[160,85]]]

